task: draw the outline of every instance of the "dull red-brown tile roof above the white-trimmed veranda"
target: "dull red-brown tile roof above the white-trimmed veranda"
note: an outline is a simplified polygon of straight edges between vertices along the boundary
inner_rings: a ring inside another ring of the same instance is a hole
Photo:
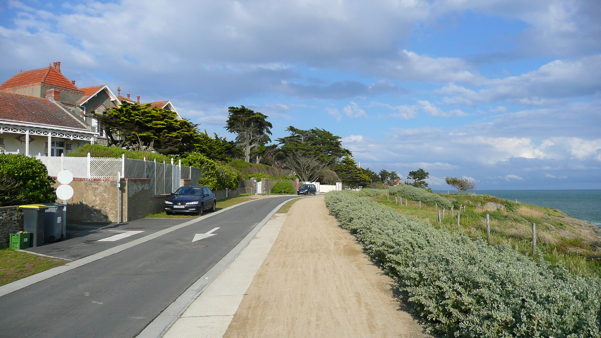
[[[87,131],[84,124],[56,103],[41,97],[0,91],[0,120],[25,123],[50,124],[52,126],[76,128]]]

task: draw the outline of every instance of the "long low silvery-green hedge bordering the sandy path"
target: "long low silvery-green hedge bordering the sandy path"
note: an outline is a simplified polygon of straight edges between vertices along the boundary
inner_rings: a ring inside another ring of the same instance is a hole
[[[430,331],[447,337],[601,337],[601,281],[537,263],[350,192],[326,205],[394,278]],[[355,292],[352,290],[350,292]]]

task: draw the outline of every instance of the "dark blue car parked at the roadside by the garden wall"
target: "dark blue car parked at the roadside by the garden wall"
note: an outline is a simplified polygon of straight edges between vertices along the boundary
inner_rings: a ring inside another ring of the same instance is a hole
[[[167,215],[175,212],[202,215],[204,210],[215,211],[216,207],[215,194],[208,186],[180,186],[165,201]]]

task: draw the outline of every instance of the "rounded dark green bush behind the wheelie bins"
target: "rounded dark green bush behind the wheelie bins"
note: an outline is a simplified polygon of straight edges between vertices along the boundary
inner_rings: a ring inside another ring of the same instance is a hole
[[[0,206],[56,200],[46,166],[25,155],[0,154]]]

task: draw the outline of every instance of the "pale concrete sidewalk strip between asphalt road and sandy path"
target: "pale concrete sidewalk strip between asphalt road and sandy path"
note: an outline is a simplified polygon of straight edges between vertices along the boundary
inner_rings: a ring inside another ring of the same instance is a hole
[[[221,338],[278,237],[287,214],[274,214],[248,246],[174,322],[163,337]]]

